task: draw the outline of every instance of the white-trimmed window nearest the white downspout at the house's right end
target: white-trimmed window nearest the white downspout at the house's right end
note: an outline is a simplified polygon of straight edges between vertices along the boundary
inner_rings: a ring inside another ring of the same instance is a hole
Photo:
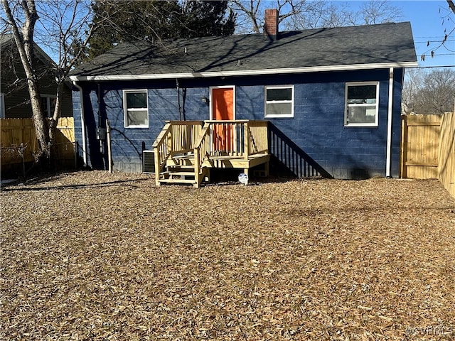
[[[378,126],[379,82],[346,83],[345,126]]]

